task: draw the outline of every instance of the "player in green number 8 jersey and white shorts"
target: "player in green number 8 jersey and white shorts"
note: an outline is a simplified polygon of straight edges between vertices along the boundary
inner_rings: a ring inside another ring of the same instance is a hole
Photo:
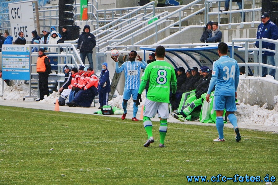
[[[150,120],[158,111],[160,119],[160,144],[159,147],[165,147],[164,139],[167,132],[167,119],[169,118],[168,104],[170,96],[170,82],[172,84],[173,97],[175,97],[177,89],[177,79],[174,68],[171,64],[164,60],[165,48],[158,46],[155,49],[156,61],[148,64],[142,77],[139,92],[137,95],[137,105],[140,105],[141,93],[144,91],[145,85],[150,80],[148,96],[144,105],[143,122],[145,130],[148,134],[148,140],[145,147],[150,146],[154,142],[152,133],[153,125]]]

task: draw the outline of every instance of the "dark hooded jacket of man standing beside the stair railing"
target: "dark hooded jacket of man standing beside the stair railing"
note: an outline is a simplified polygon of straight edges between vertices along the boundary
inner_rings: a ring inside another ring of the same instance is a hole
[[[89,29],[88,33],[85,32],[86,28]],[[93,49],[96,45],[96,40],[95,35],[91,34],[90,31],[90,26],[85,25],[82,34],[79,35],[79,39],[77,41],[77,49],[80,50],[80,53],[93,53]]]

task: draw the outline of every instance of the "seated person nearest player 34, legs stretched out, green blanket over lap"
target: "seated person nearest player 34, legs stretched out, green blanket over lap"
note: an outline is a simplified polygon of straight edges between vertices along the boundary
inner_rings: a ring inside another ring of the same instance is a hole
[[[187,99],[187,105],[180,114],[172,114],[172,116],[179,121],[185,121],[185,118],[189,116],[194,109],[200,107],[204,101],[204,98],[201,97],[202,94],[205,94],[208,91],[209,82],[211,80],[211,73],[208,67],[202,68],[203,80],[197,86],[195,95],[193,94]],[[203,96],[205,97],[205,96]]]

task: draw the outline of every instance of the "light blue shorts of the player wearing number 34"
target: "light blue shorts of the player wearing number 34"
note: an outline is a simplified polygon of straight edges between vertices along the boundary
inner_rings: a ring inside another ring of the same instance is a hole
[[[234,112],[237,111],[235,96],[214,95],[213,101],[214,110],[224,110]]]

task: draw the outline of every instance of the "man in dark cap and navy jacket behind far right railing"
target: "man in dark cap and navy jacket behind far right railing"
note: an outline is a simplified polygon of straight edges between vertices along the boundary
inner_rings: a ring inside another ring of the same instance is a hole
[[[267,39],[278,39],[278,29],[277,25],[270,20],[270,16],[267,13],[264,13],[261,17],[262,23],[260,23],[257,31],[257,39],[267,38]],[[259,48],[259,41],[256,41],[255,46]],[[275,50],[274,43],[262,42],[262,48]],[[262,63],[275,66],[274,60],[275,52],[264,51],[262,52]],[[275,69],[269,69],[269,74],[274,77],[275,79]],[[267,76],[267,68],[262,67],[262,76]]]

